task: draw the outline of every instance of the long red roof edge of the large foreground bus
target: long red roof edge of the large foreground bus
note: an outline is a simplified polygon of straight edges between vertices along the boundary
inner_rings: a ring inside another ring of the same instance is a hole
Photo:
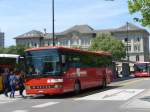
[[[39,47],[39,48],[30,48],[25,51],[37,51],[37,50],[46,50],[46,49],[61,49],[64,51],[73,51],[73,52],[79,52],[79,53],[87,53],[87,54],[95,54],[95,55],[106,55],[106,56],[111,56],[112,54],[110,52],[105,52],[105,51],[84,51],[80,49],[75,49],[75,48],[67,48],[67,47],[62,47],[62,46],[48,46],[48,47]]]

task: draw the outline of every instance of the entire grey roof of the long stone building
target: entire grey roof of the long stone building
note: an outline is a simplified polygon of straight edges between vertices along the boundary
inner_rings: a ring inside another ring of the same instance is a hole
[[[95,34],[95,33],[112,33],[112,32],[126,32],[128,28],[128,31],[143,31],[146,32],[149,35],[149,32],[143,28],[140,28],[132,23],[125,24],[121,27],[118,28],[113,28],[113,29],[101,29],[101,30],[94,30],[92,27],[89,25],[75,25],[63,32],[55,33],[56,36],[62,38],[61,36],[64,36],[68,33],[72,32],[79,32],[83,34]],[[22,35],[19,35],[15,37],[15,39],[19,38],[45,38],[45,39],[52,39],[52,33],[42,33],[37,30],[32,30],[27,33],[24,33]]]

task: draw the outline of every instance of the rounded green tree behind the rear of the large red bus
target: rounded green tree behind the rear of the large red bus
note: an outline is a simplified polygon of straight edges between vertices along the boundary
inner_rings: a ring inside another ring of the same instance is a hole
[[[106,33],[102,33],[96,38],[93,38],[89,50],[109,51],[112,53],[114,60],[125,58],[126,55],[124,44],[120,40],[115,39],[115,37]]]

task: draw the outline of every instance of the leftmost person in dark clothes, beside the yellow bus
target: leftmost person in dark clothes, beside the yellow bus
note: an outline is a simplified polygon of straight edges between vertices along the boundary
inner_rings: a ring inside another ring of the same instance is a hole
[[[9,71],[5,69],[5,72],[2,75],[2,80],[3,80],[3,91],[4,95],[8,97],[8,91],[9,91]]]

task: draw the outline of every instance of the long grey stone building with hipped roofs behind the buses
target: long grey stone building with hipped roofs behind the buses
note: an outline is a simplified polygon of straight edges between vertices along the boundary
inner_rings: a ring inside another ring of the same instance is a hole
[[[75,25],[63,32],[55,34],[55,44],[65,47],[80,47],[88,49],[92,38],[101,33],[110,33],[121,40],[126,48],[130,61],[148,61],[149,57],[149,33],[131,23],[119,28],[94,30],[88,25]],[[16,44],[29,47],[52,46],[52,34],[40,31],[30,31],[16,38]]]

